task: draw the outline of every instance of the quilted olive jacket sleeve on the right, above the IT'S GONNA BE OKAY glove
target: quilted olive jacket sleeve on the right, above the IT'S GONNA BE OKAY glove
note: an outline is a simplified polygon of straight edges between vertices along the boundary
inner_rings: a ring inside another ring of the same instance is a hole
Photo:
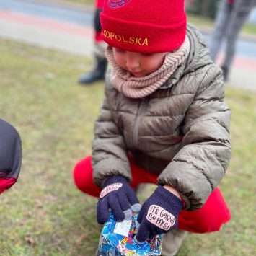
[[[186,112],[182,149],[158,180],[180,192],[187,210],[202,207],[224,177],[231,157],[230,115],[221,70],[213,64]]]

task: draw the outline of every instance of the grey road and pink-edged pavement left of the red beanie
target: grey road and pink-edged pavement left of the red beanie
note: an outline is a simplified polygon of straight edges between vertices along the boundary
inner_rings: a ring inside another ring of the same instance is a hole
[[[92,17],[79,4],[0,0],[0,37],[92,56]]]

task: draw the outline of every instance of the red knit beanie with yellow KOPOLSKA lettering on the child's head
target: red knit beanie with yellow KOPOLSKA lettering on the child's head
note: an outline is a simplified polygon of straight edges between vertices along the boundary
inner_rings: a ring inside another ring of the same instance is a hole
[[[184,0],[105,0],[100,21],[105,42],[138,53],[177,50],[187,27]]]

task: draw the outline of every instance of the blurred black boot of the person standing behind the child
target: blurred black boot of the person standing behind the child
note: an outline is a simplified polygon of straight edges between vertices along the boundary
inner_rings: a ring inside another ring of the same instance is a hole
[[[96,66],[89,74],[84,74],[79,77],[80,84],[92,84],[94,81],[105,79],[105,71],[107,69],[107,59],[96,56]]]

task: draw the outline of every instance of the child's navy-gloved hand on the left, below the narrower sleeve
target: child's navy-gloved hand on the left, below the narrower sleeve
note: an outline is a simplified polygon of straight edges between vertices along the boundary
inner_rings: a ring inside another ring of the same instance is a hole
[[[105,182],[97,204],[99,224],[104,224],[109,219],[109,208],[116,221],[131,219],[132,211],[140,211],[141,204],[125,177],[112,176]]]

